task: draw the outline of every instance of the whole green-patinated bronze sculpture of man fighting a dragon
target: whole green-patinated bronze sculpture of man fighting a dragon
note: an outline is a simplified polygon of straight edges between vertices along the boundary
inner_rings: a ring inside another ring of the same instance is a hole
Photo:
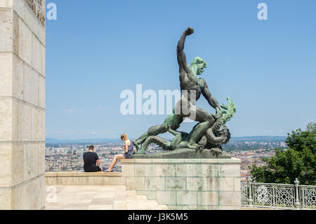
[[[142,136],[133,141],[138,154],[145,154],[147,147],[151,143],[156,143],[164,150],[173,151],[173,153],[164,153],[161,157],[183,157],[185,155],[192,157],[192,152],[195,152],[195,154],[200,152],[199,155],[204,156],[205,153],[202,154],[204,149],[218,157],[218,155],[223,154],[221,145],[228,143],[230,140],[230,132],[225,124],[234,117],[236,107],[231,98],[227,98],[227,105],[220,106],[211,95],[206,81],[198,77],[207,67],[202,58],[196,57],[192,60],[191,66],[188,65],[183,49],[185,38],[193,32],[194,30],[188,27],[180,37],[177,46],[182,96],[173,108],[173,114],[166,117],[162,124],[150,127]],[[192,95],[192,93],[194,94]],[[201,95],[216,110],[216,114],[211,114],[195,105]],[[185,111],[189,113],[185,113]],[[195,116],[192,117],[192,114]],[[190,133],[176,131],[186,118],[199,123],[193,127]],[[173,134],[173,140],[166,140],[158,136],[160,133],[166,133],[167,131]],[[139,155],[136,155],[136,157],[139,157]],[[148,155],[147,157],[159,157],[159,155]]]

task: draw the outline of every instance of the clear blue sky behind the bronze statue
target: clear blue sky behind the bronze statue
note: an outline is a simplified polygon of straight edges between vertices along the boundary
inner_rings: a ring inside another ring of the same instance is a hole
[[[176,44],[220,104],[237,107],[232,136],[285,136],[316,121],[316,1],[47,0],[46,137],[138,138],[167,115],[122,115],[121,91],[180,89]],[[257,6],[268,5],[268,20]],[[202,97],[197,105],[215,112]],[[194,123],[181,125],[190,131]]]

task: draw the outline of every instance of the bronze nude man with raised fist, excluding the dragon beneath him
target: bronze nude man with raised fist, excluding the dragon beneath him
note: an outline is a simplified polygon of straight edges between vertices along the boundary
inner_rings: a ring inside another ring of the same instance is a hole
[[[180,124],[187,117],[201,122],[197,125],[197,131],[195,131],[192,138],[190,138],[190,144],[193,145],[199,141],[199,139],[204,135],[206,129],[209,129],[215,121],[212,114],[195,106],[195,103],[199,100],[201,93],[204,95],[211,107],[214,109],[216,109],[216,107],[221,109],[217,100],[211,95],[206,81],[197,77],[197,75],[204,72],[206,62],[202,58],[196,57],[192,60],[191,67],[187,63],[187,59],[183,51],[185,38],[193,32],[194,30],[191,27],[188,27],[180,37],[177,46],[181,98],[178,100],[178,103],[176,103],[176,107],[173,109],[173,114],[169,115],[163,124],[150,127],[148,131],[134,141],[134,145],[136,145],[138,150],[146,138],[149,136],[157,136],[160,133],[165,133],[169,130],[169,126],[171,126],[173,130],[178,129]]]

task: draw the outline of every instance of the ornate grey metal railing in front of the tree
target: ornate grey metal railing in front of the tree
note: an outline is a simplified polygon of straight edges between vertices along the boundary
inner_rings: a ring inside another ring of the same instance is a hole
[[[242,183],[242,206],[275,209],[316,209],[316,186],[256,183],[249,177]]]

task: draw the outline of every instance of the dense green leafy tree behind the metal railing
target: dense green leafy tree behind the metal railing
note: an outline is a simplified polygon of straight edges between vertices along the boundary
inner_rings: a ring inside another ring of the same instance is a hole
[[[316,124],[311,122],[305,131],[288,133],[288,150],[275,150],[275,156],[263,158],[264,166],[249,166],[251,176],[261,183],[316,185]]]

